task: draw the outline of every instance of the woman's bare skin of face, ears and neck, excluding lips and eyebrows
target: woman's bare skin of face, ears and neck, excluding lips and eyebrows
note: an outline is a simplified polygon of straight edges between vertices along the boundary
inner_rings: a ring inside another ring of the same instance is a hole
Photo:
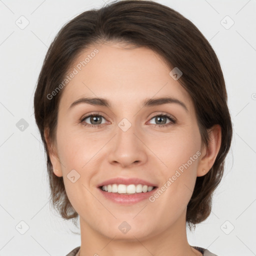
[[[79,255],[202,255],[187,241],[186,206],[196,176],[205,175],[214,163],[220,126],[209,130],[209,146],[203,146],[189,94],[150,49],[128,49],[110,42],[91,46],[70,70],[95,47],[98,53],[61,95],[55,143],[47,139],[54,173],[63,176],[68,198],[80,217]],[[166,96],[182,101],[187,111],[177,103],[141,108],[146,98]],[[106,98],[111,107],[80,103],[69,108],[80,97]],[[101,116],[100,124],[90,117],[81,121],[95,111]],[[161,114],[169,114],[176,122],[166,118],[157,124]],[[118,126],[123,118],[131,124],[126,131]],[[98,127],[84,126],[86,123]],[[44,134],[47,138],[46,129]],[[146,199],[120,205],[97,188],[100,182],[117,176],[139,177],[161,188],[196,152],[200,156],[153,202]],[[67,178],[72,169],[80,175],[74,183]],[[125,234],[118,228],[123,221],[131,226]]]

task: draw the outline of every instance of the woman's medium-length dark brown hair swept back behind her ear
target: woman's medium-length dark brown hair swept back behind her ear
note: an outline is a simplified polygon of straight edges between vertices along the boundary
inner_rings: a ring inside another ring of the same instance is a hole
[[[208,145],[207,129],[221,126],[221,145],[211,169],[196,177],[187,205],[189,227],[206,219],[214,189],[219,184],[232,137],[227,93],[218,58],[207,39],[188,19],[160,3],[147,0],[113,1],[84,11],[66,23],[49,46],[34,93],[34,114],[47,155],[51,204],[64,219],[78,217],[67,197],[63,177],[52,171],[44,129],[55,141],[58,104],[64,88],[48,99],[63,81],[73,60],[91,45],[119,41],[144,46],[163,57],[170,70],[182,71],[179,83],[190,94],[202,143]]]

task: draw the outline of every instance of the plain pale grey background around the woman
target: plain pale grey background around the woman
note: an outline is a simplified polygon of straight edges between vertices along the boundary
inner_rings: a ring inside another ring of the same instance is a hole
[[[157,2],[190,19],[209,40],[221,63],[234,128],[211,215],[188,232],[188,241],[218,256],[256,255],[256,0]],[[0,255],[63,256],[80,245],[79,234],[69,231],[79,229],[49,208],[33,93],[47,48],[61,26],[103,4],[0,0]],[[22,118],[27,125],[20,130]]]

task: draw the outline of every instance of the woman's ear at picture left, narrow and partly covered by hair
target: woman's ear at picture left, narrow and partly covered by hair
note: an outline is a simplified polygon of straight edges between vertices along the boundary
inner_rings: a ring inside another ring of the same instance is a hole
[[[44,138],[47,144],[47,149],[49,152],[50,162],[52,164],[53,172],[56,176],[61,177],[62,176],[62,170],[61,170],[61,164],[59,161],[59,157],[57,154],[56,145],[49,139],[49,132],[48,128],[44,129]]]

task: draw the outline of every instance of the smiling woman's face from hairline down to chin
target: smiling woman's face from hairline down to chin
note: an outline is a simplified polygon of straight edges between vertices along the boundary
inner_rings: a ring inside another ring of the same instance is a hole
[[[85,230],[132,239],[185,223],[203,149],[191,98],[170,71],[150,49],[110,43],[73,62],[59,102],[59,161],[51,156],[51,162]],[[162,97],[176,101],[155,101]],[[100,100],[71,106],[81,98],[104,98],[109,106]],[[102,191],[99,185],[112,178],[157,187],[133,195]]]

